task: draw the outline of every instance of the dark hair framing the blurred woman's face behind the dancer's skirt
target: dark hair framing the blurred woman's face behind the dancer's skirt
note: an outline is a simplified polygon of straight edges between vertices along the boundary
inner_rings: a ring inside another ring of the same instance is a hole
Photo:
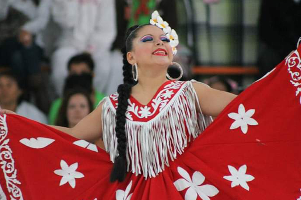
[[[85,96],[85,98],[88,101],[89,110],[92,112],[93,110],[93,104],[92,100],[90,98],[90,95],[83,90],[82,88],[74,88],[73,90],[68,91],[68,93],[63,97],[61,107],[59,109],[59,112],[57,114],[57,119],[55,121],[55,125],[57,126],[63,126],[63,127],[69,127],[69,123],[67,120],[67,107],[68,103],[70,101],[70,98],[75,94],[82,94]]]

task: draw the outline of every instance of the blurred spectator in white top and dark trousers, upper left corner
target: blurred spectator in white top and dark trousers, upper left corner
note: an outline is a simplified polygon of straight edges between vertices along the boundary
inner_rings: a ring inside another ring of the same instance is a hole
[[[49,21],[51,3],[51,0],[0,1],[0,21],[12,20],[12,27],[6,33],[0,30],[0,34],[5,36],[0,44],[0,66],[9,66],[14,71],[44,112],[48,111],[49,105],[41,95],[44,57],[42,31]],[[18,16],[11,16],[12,10],[19,13]]]

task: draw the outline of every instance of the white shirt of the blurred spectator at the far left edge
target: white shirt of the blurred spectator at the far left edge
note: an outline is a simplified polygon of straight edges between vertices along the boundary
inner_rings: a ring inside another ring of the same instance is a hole
[[[26,101],[22,101],[16,109],[16,113],[23,117],[32,119],[34,121],[41,122],[43,124],[47,123],[46,115],[40,111],[36,106]]]

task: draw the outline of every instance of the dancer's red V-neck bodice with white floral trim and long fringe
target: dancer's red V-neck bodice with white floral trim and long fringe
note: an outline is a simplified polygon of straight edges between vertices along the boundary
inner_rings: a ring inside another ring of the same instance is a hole
[[[116,108],[118,93],[106,97],[102,107],[102,136],[113,162],[117,151]],[[147,105],[128,99],[126,141],[128,171],[155,177],[210,123],[197,113],[197,94],[191,81],[163,83]]]

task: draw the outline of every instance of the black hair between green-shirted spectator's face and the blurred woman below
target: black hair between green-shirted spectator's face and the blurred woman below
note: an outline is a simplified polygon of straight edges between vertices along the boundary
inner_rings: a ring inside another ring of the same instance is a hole
[[[63,95],[66,95],[68,91],[73,90],[74,88],[82,88],[88,94],[92,94],[92,79],[93,77],[90,73],[71,74],[67,76],[65,79]]]

